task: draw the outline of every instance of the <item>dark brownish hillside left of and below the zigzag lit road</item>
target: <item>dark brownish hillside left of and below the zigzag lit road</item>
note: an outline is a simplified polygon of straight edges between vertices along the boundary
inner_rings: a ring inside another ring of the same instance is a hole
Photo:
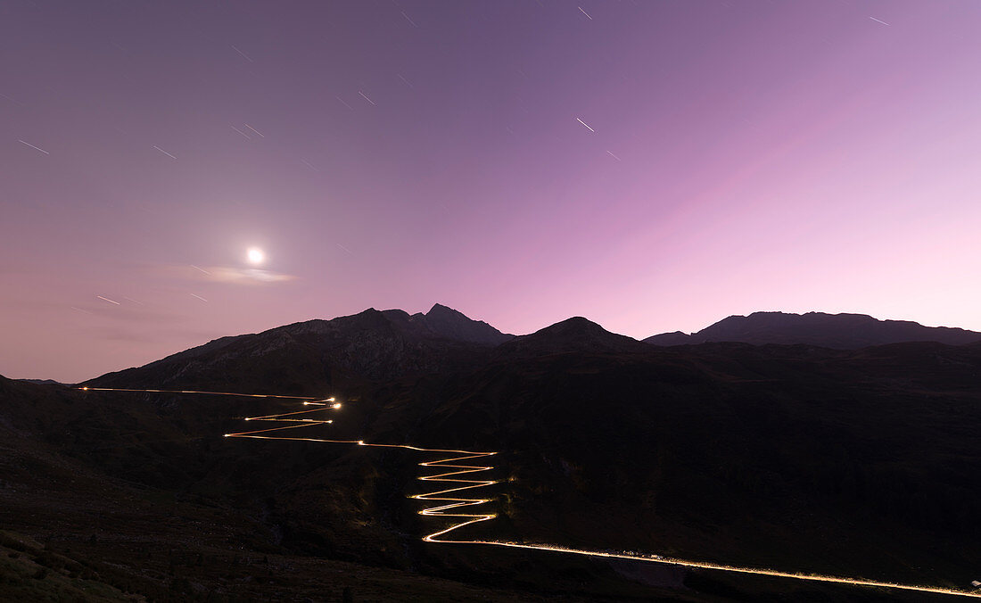
[[[401,459],[239,447],[215,428],[249,405],[195,402],[0,377],[0,600],[593,600],[547,567],[417,567],[387,510]],[[311,487],[336,500],[295,500]]]

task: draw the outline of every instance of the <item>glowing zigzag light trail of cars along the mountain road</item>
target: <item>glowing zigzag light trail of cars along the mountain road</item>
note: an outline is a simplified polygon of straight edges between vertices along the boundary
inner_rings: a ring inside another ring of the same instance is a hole
[[[240,431],[237,433],[226,433],[225,437],[248,437],[254,439],[279,439],[288,441],[305,441],[305,442],[325,442],[334,444],[355,444],[358,446],[371,446],[376,448],[405,448],[407,450],[415,450],[417,452],[435,452],[442,454],[452,454],[452,455],[462,455],[462,456],[451,456],[450,458],[439,459],[436,461],[426,461],[424,463],[419,463],[420,467],[435,468],[435,469],[450,469],[456,471],[449,471],[446,473],[441,473],[435,476],[424,476],[419,477],[422,481],[438,481],[448,484],[453,484],[452,487],[437,490],[435,492],[427,492],[424,494],[415,494],[410,496],[410,498],[415,498],[417,500],[426,501],[437,501],[442,504],[436,507],[430,507],[419,512],[420,515],[425,517],[440,517],[440,518],[455,518],[457,523],[451,525],[449,528],[440,529],[431,534],[423,537],[426,542],[435,542],[439,544],[483,544],[492,546],[503,546],[508,548],[516,549],[527,549],[536,551],[550,551],[554,553],[566,553],[571,555],[582,555],[585,557],[594,558],[610,558],[610,559],[626,559],[631,561],[640,561],[645,563],[658,563],[662,565],[680,566],[686,568],[697,568],[701,570],[716,570],[720,572],[731,572],[735,574],[751,574],[756,576],[767,576],[772,578],[794,578],[800,580],[808,580],[815,582],[828,582],[837,584],[846,584],[852,586],[871,586],[877,588],[893,588],[900,590],[911,590],[917,592],[929,592],[933,594],[946,594],[955,595],[962,597],[972,597],[981,598],[981,592],[974,591],[968,592],[964,590],[955,590],[953,588],[944,588],[941,586],[925,586],[925,585],[914,585],[914,584],[900,584],[896,582],[884,582],[878,580],[867,580],[862,578],[841,578],[835,576],[820,576],[815,574],[799,574],[794,572],[781,572],[778,570],[768,570],[763,568],[745,568],[738,566],[727,566],[724,564],[710,563],[704,561],[691,561],[686,559],[677,559],[672,557],[663,557],[660,555],[628,555],[624,553],[607,553],[603,551],[591,551],[584,549],[574,549],[562,546],[548,545],[548,544],[522,544],[519,542],[507,542],[503,540],[446,540],[440,538],[449,532],[470,526],[473,524],[478,524],[480,522],[487,522],[496,517],[494,514],[468,514],[468,513],[452,513],[452,510],[460,509],[463,507],[474,507],[483,505],[490,502],[490,498],[458,498],[455,496],[447,496],[447,494],[452,494],[455,492],[461,492],[464,490],[470,490],[474,488],[482,488],[494,483],[497,480],[494,479],[464,479],[461,476],[476,474],[481,472],[491,471],[493,466],[480,466],[480,465],[451,465],[450,463],[456,463],[459,461],[471,461],[476,459],[483,459],[491,457],[496,452],[475,452],[472,450],[457,450],[457,449],[447,449],[447,448],[423,448],[420,446],[412,446],[409,444],[378,444],[369,443],[364,440],[349,440],[349,439],[325,439],[318,437],[289,437],[284,435],[260,435],[260,433],[269,433],[270,431],[280,431],[284,429],[295,429],[298,427],[314,427],[320,425],[330,425],[333,424],[333,420],[316,420],[316,419],[295,419],[296,415],[303,415],[307,413],[317,413],[327,410],[339,410],[341,404],[336,402],[335,398],[317,398],[310,396],[283,396],[283,395],[273,395],[273,394],[249,394],[249,393],[231,393],[224,391],[191,391],[191,390],[168,390],[168,389],[122,389],[122,388],[112,388],[112,387],[79,387],[83,391],[129,391],[129,392],[142,392],[142,393],[189,393],[189,394],[210,394],[210,395],[221,395],[221,396],[240,396],[240,397],[250,397],[250,398],[279,398],[279,399],[291,399],[291,400],[303,400],[304,406],[316,406],[318,408],[313,408],[310,410],[295,411],[291,413],[281,413],[278,415],[265,415],[260,417],[246,417],[244,421],[269,421],[269,422],[280,422],[280,423],[294,423],[296,425],[284,426],[284,427],[270,427],[267,429],[254,429],[251,431]],[[456,485],[463,484],[463,485]]]

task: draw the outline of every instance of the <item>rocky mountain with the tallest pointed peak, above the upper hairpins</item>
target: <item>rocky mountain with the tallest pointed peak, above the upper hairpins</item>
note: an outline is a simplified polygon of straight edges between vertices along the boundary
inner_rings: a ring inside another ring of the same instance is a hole
[[[330,321],[222,337],[87,384],[188,389],[221,384],[230,391],[251,386],[310,393],[336,378],[379,380],[466,366],[512,337],[439,304],[412,316],[371,308]]]

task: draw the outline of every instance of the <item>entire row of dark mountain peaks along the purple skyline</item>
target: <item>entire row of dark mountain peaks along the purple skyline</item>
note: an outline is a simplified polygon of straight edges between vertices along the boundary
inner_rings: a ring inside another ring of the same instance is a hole
[[[256,334],[222,337],[139,369],[90,381],[105,387],[242,387],[305,392],[305,384],[335,379],[372,380],[439,373],[494,357],[544,352],[644,352],[649,345],[708,342],[813,345],[858,349],[912,341],[961,345],[981,332],[878,321],[859,314],[756,312],[731,316],[697,333],[662,333],[638,341],[582,317],[529,335],[502,333],[483,321],[436,304],[426,314],[370,308],[333,320],[314,320]],[[239,371],[230,373],[234,366]]]

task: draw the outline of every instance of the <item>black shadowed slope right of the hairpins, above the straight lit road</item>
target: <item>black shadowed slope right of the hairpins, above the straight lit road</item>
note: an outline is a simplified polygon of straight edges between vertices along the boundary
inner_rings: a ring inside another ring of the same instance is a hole
[[[469,375],[387,391],[386,412],[403,418],[384,419],[387,437],[411,424],[424,445],[507,451],[489,528],[803,572],[972,579],[977,346],[508,356],[523,339]]]

